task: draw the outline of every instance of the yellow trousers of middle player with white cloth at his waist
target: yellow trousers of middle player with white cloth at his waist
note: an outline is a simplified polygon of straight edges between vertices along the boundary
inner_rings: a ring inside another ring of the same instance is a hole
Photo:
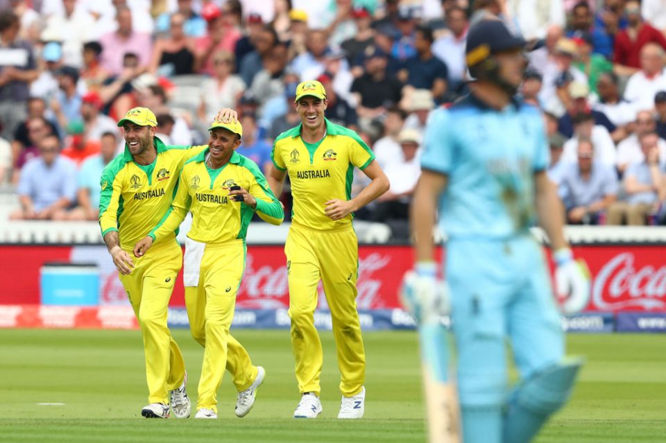
[[[258,370],[248,351],[230,333],[236,293],[245,270],[243,240],[207,243],[200,262],[198,286],[185,287],[185,304],[192,336],[204,347],[197,409],[217,412],[217,390],[224,370],[236,389],[246,390]]]

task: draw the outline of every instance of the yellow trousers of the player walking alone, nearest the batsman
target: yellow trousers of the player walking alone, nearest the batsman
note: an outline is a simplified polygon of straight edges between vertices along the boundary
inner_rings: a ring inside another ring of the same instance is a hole
[[[291,349],[300,392],[321,392],[323,354],[314,327],[317,285],[321,279],[333,321],[333,336],[345,397],[361,392],[366,354],[356,310],[359,246],[353,227],[319,231],[291,223],[287,243]]]

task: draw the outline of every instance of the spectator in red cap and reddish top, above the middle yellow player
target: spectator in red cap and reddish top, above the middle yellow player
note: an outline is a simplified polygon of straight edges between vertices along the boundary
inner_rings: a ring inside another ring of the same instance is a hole
[[[228,24],[215,3],[207,3],[201,15],[207,21],[208,31],[206,35],[199,37],[194,45],[194,71],[210,76],[215,71],[212,63],[213,54],[220,49],[233,52],[241,33]],[[246,85],[249,84],[246,82]]]

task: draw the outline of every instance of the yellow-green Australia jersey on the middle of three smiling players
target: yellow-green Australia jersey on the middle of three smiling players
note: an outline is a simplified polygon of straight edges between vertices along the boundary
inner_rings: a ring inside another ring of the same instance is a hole
[[[180,226],[187,211],[192,212],[192,227],[187,236],[202,243],[245,238],[255,211],[268,223],[282,223],[282,205],[255,162],[234,152],[227,164],[211,169],[205,162],[207,152],[185,162],[171,208],[148,235],[155,241],[169,236]],[[246,189],[257,200],[256,209],[232,200],[229,188],[234,185]]]

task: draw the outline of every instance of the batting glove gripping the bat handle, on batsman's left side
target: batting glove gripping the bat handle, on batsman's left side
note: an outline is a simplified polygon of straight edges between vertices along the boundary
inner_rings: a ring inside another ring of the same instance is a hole
[[[436,263],[421,261],[402,279],[402,305],[418,323],[434,321],[451,311],[446,282],[437,279],[436,274]]]

